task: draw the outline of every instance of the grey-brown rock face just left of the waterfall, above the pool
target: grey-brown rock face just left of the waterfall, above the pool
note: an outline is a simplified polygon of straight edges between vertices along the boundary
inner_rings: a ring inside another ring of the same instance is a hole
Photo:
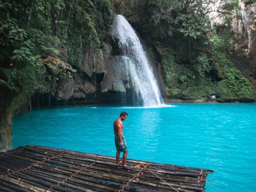
[[[61,59],[67,61],[65,49],[61,49]],[[57,100],[86,99],[92,97],[100,89],[100,84],[106,74],[106,59],[111,54],[111,47],[104,44],[103,48],[95,51],[92,48],[84,53],[84,61],[73,77],[62,75],[55,86],[52,95]]]

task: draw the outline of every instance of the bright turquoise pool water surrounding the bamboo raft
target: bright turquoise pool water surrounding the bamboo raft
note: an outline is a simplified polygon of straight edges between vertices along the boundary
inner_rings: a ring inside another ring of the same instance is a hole
[[[115,156],[113,121],[123,110],[129,114],[123,122],[128,158],[214,170],[207,191],[255,191],[256,104],[33,110],[32,119],[13,119],[13,148],[40,145]]]

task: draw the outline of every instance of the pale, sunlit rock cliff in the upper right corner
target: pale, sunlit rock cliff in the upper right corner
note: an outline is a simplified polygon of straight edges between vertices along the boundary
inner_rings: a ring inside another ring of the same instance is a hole
[[[217,1],[210,7],[208,13],[211,24],[224,26],[224,14],[220,11],[226,1]],[[242,59],[239,57],[231,57],[230,60],[243,75],[250,80],[256,92],[256,5],[251,1],[238,1],[238,7],[230,11],[232,15],[231,27],[234,36],[237,36],[239,42],[235,44],[236,49],[243,51]]]

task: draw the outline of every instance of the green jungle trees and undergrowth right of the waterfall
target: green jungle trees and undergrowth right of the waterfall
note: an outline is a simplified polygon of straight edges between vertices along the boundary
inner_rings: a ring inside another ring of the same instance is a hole
[[[243,34],[232,32],[239,1],[222,1],[212,9],[212,0],[114,1],[115,9],[128,18],[138,18],[140,28],[162,55],[168,97],[205,99],[255,98],[252,84],[236,69],[230,57],[243,61],[236,49]],[[244,1],[256,4],[255,1]],[[207,13],[221,14],[222,26],[210,24]]]

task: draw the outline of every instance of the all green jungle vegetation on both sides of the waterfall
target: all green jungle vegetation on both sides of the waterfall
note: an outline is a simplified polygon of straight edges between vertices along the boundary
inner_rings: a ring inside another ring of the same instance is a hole
[[[238,0],[225,1],[218,10],[225,18],[222,28],[210,26],[207,13],[212,2],[1,0],[1,119],[22,106],[31,107],[34,94],[54,95],[59,77],[73,77],[86,49],[102,48],[115,13],[137,20],[142,32],[150,32],[161,54],[167,96],[254,98],[250,82],[228,59],[237,53],[230,22]],[[173,43],[175,39],[181,46]]]

